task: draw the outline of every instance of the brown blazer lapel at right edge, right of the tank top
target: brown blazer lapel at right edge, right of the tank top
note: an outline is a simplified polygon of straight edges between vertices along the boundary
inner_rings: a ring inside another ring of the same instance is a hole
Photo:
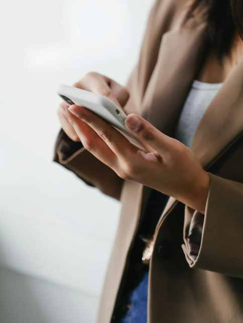
[[[243,60],[225,81],[204,113],[191,149],[208,169],[243,130]]]

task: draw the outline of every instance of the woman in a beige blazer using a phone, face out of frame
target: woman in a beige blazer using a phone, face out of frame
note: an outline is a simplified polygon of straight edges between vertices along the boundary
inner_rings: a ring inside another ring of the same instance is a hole
[[[75,84],[124,107],[154,152],[59,107],[55,160],[123,204],[99,323],[243,321],[242,14],[241,0],[157,0],[128,88]]]

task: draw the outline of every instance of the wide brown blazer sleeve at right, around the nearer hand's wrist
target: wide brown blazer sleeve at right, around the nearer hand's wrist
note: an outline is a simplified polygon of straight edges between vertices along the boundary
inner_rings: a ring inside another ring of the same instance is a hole
[[[243,184],[210,175],[209,194],[198,256],[190,258],[188,234],[194,210],[186,207],[184,243],[192,268],[243,278]]]

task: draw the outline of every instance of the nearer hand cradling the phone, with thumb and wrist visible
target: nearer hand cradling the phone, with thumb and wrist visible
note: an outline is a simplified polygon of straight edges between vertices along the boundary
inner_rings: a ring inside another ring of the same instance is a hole
[[[130,114],[126,127],[155,150],[146,153],[84,107],[72,105],[65,116],[84,148],[119,177],[151,187],[205,213],[209,175],[192,150],[180,141],[163,134],[139,115]]]

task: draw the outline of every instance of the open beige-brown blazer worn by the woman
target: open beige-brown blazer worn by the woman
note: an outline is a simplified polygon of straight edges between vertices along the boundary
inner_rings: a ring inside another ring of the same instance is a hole
[[[144,116],[172,135],[207,50],[205,22],[192,17],[179,27],[183,1],[157,0],[125,110]],[[149,323],[243,322],[243,62],[206,110],[191,149],[210,173],[201,248],[193,263],[186,237],[193,210],[170,198],[155,232],[149,270]],[[75,150],[76,149],[76,150]],[[55,160],[87,183],[112,195],[117,175],[60,132]],[[123,290],[133,242],[150,190],[124,181],[122,209],[104,283],[98,323],[109,323]],[[164,242],[169,259],[158,256]],[[139,322],[138,322],[139,323]]]

